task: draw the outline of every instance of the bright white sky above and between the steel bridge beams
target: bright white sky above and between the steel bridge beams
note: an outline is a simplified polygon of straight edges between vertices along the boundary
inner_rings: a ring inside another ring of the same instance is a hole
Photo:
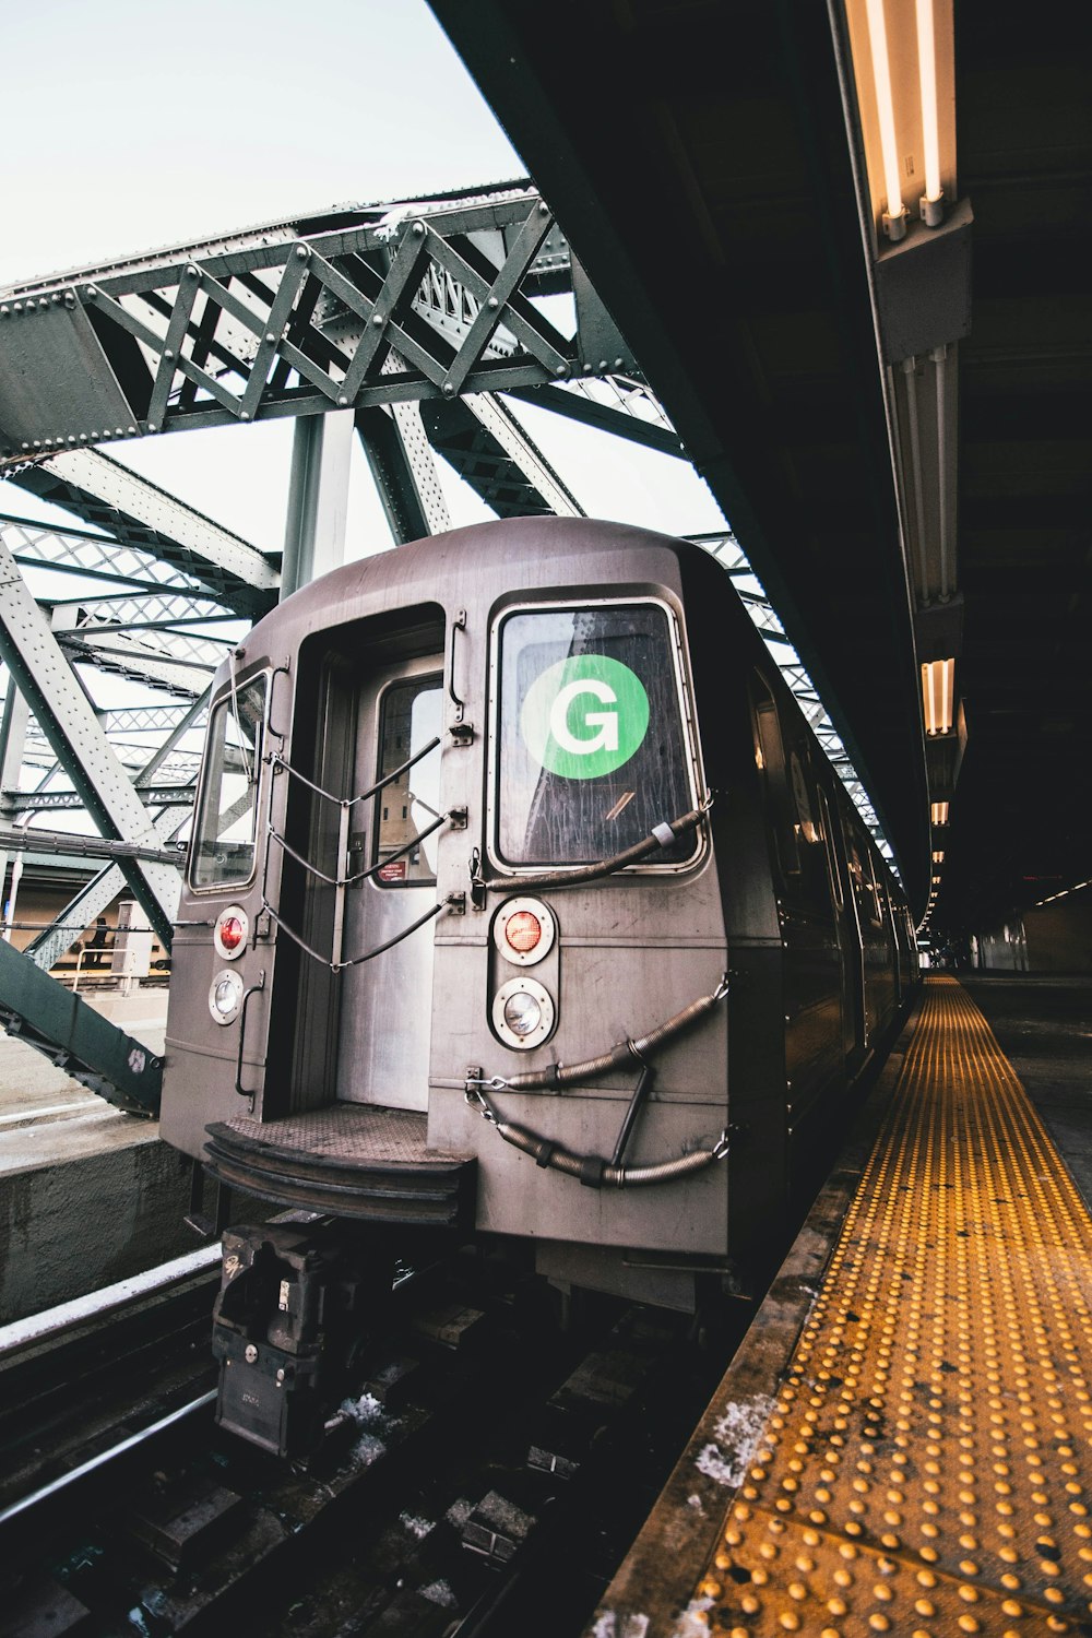
[[[5,16],[0,287],[332,203],[524,174],[424,0],[39,0]],[[593,516],[722,526],[684,462],[519,406]],[[283,544],[291,423],[113,444],[262,549]],[[349,555],[390,544],[355,454]],[[439,462],[453,523],[490,513]],[[15,488],[0,509],[54,518]]]

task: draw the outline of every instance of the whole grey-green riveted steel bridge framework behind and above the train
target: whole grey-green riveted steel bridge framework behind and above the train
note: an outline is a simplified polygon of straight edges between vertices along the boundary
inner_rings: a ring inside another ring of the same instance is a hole
[[[193,801],[213,672],[285,581],[321,565],[318,488],[331,470],[345,482],[334,444],[323,452],[309,431],[349,413],[396,542],[445,526],[437,454],[499,516],[580,514],[521,424],[521,400],[684,459],[527,183],[342,208],[0,293],[0,475],[74,519],[57,527],[0,514],[0,855],[23,845],[18,829],[34,816],[64,809],[83,809],[105,839],[87,845],[105,860],[98,875],[34,940],[31,960],[49,968],[72,927],[123,885],[169,945],[177,871],[164,844]],[[300,418],[283,577],[280,554],[98,447],[277,416]],[[732,575],[876,832],[738,544],[727,531],[701,544]],[[49,595],[34,590],[46,572]],[[59,596],[64,577],[72,595]],[[95,708],[85,667],[160,703]]]

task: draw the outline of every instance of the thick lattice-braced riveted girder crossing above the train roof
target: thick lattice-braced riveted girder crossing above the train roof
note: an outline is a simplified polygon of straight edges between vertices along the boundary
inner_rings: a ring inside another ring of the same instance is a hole
[[[110,437],[632,373],[530,187],[288,224],[0,300],[0,459]],[[399,367],[391,370],[390,359]]]

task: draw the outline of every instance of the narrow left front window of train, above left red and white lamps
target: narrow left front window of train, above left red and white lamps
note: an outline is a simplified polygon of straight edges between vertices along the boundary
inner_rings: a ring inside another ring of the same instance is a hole
[[[262,675],[234,695],[224,695],[210,717],[190,850],[190,883],[195,888],[239,885],[254,875],[265,685]]]

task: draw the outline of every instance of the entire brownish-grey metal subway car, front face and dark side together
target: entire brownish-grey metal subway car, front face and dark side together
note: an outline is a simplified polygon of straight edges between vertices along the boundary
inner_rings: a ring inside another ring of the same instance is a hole
[[[689,1307],[779,1242],[915,970],[724,570],[476,526],[306,586],[219,676],[162,1132],[283,1206]]]

